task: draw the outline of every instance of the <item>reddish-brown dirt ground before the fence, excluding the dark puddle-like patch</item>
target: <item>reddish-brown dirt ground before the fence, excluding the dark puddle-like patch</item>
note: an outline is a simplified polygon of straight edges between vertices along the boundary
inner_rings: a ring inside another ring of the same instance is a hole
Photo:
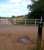
[[[34,25],[0,25],[0,50],[29,50],[35,48],[34,43],[26,45],[18,43],[17,38],[21,36],[28,36],[33,42],[36,41],[37,27]]]

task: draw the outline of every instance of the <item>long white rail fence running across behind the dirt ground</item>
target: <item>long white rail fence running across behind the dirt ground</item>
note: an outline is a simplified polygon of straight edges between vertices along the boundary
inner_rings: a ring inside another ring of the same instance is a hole
[[[40,19],[0,19],[0,24],[38,24]],[[44,23],[44,22],[43,22]]]

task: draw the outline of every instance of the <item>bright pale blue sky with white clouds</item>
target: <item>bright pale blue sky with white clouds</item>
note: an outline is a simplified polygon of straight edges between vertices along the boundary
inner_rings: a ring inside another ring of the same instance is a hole
[[[0,16],[11,17],[28,14],[27,5],[31,0],[0,0]]]

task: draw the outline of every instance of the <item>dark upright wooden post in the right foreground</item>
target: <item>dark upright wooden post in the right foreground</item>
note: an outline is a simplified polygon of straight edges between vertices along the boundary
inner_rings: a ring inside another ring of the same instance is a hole
[[[38,25],[37,50],[41,50],[42,28],[43,28],[43,20],[41,17],[40,23]]]

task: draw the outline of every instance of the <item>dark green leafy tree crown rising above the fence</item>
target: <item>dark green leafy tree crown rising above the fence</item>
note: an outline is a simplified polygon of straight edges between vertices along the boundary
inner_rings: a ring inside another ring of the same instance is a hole
[[[31,13],[28,13],[28,18],[37,18],[40,19],[43,16],[44,19],[44,0],[34,1],[32,0],[33,4],[28,5],[27,7],[31,10]]]

